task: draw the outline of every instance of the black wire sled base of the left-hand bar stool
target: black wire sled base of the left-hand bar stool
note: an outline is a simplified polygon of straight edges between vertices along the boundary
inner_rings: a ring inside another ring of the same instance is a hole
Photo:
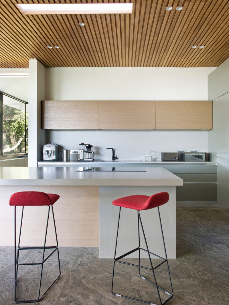
[[[47,222],[46,222],[46,229],[45,229],[45,240],[44,240],[44,246],[43,247],[20,247],[20,238],[21,238],[21,228],[22,228],[22,219],[23,219],[23,212],[24,212],[24,206],[22,206],[22,213],[21,213],[21,223],[20,223],[20,233],[19,233],[19,240],[18,240],[18,249],[16,251],[16,206],[14,207],[14,303],[36,303],[39,302],[42,297],[45,295],[45,293],[53,286],[53,284],[57,281],[57,279],[60,277],[60,257],[59,257],[59,249],[58,249],[58,241],[57,241],[57,235],[56,235],[56,224],[55,224],[55,218],[53,213],[53,206],[52,208],[52,215],[53,215],[53,223],[54,223],[54,229],[55,229],[55,236],[56,236],[56,246],[48,246],[46,247],[46,237],[47,237],[47,230],[48,230],[48,222],[49,222],[49,211],[50,211],[50,205],[48,206],[48,216],[47,216]],[[19,251],[21,250],[32,250],[32,249],[43,249],[42,253],[42,261],[39,263],[23,263],[19,264]],[[52,253],[49,254],[48,257],[45,258],[45,250],[46,249],[53,249]],[[42,271],[43,271],[43,264],[44,262],[55,252],[57,251],[58,256],[58,265],[59,265],[59,275],[54,280],[54,282],[49,286],[49,288],[40,296],[41,292],[41,283],[42,283]],[[38,289],[38,297],[35,300],[16,300],[16,290],[17,290],[17,271],[18,266],[21,265],[41,265],[41,273],[40,273],[40,281],[39,281],[39,289]]]

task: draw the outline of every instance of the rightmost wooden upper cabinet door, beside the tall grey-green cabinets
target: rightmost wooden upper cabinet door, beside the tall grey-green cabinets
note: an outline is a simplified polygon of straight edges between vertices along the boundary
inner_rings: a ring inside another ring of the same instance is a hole
[[[212,129],[212,101],[156,101],[156,129]]]

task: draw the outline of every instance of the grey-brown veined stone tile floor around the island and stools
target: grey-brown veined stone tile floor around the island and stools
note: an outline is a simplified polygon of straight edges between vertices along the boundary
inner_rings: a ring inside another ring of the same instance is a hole
[[[169,259],[174,297],[168,305],[229,304],[229,215],[215,208],[178,208],[176,259]],[[39,305],[111,305],[142,304],[111,294],[112,259],[99,259],[96,247],[60,247],[61,277],[38,303]],[[36,261],[40,253],[21,251],[20,261]],[[137,264],[137,259],[123,259]],[[157,264],[158,259],[152,259]],[[13,304],[14,249],[0,247],[0,305]],[[149,260],[141,264],[149,267]],[[39,272],[39,267],[33,267]],[[44,265],[42,289],[58,272],[56,255]],[[29,267],[19,272],[19,290],[31,297],[38,281]],[[141,274],[152,282],[152,271]],[[166,264],[155,270],[158,285],[169,291]],[[24,283],[22,285],[22,283]],[[137,267],[115,264],[114,292],[143,298],[160,304],[155,287],[143,280]],[[167,295],[162,293],[162,301]]]

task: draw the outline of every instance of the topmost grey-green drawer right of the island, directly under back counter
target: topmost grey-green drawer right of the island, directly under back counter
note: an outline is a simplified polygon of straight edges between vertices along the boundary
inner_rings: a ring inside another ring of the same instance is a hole
[[[173,174],[178,173],[199,173],[199,174],[216,174],[217,165],[216,164],[159,164],[158,167],[164,167]]]

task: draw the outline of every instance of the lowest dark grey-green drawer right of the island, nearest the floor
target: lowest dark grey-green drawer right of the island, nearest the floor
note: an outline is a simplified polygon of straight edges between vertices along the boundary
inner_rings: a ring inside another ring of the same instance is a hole
[[[217,201],[216,183],[184,183],[176,186],[177,201]]]

